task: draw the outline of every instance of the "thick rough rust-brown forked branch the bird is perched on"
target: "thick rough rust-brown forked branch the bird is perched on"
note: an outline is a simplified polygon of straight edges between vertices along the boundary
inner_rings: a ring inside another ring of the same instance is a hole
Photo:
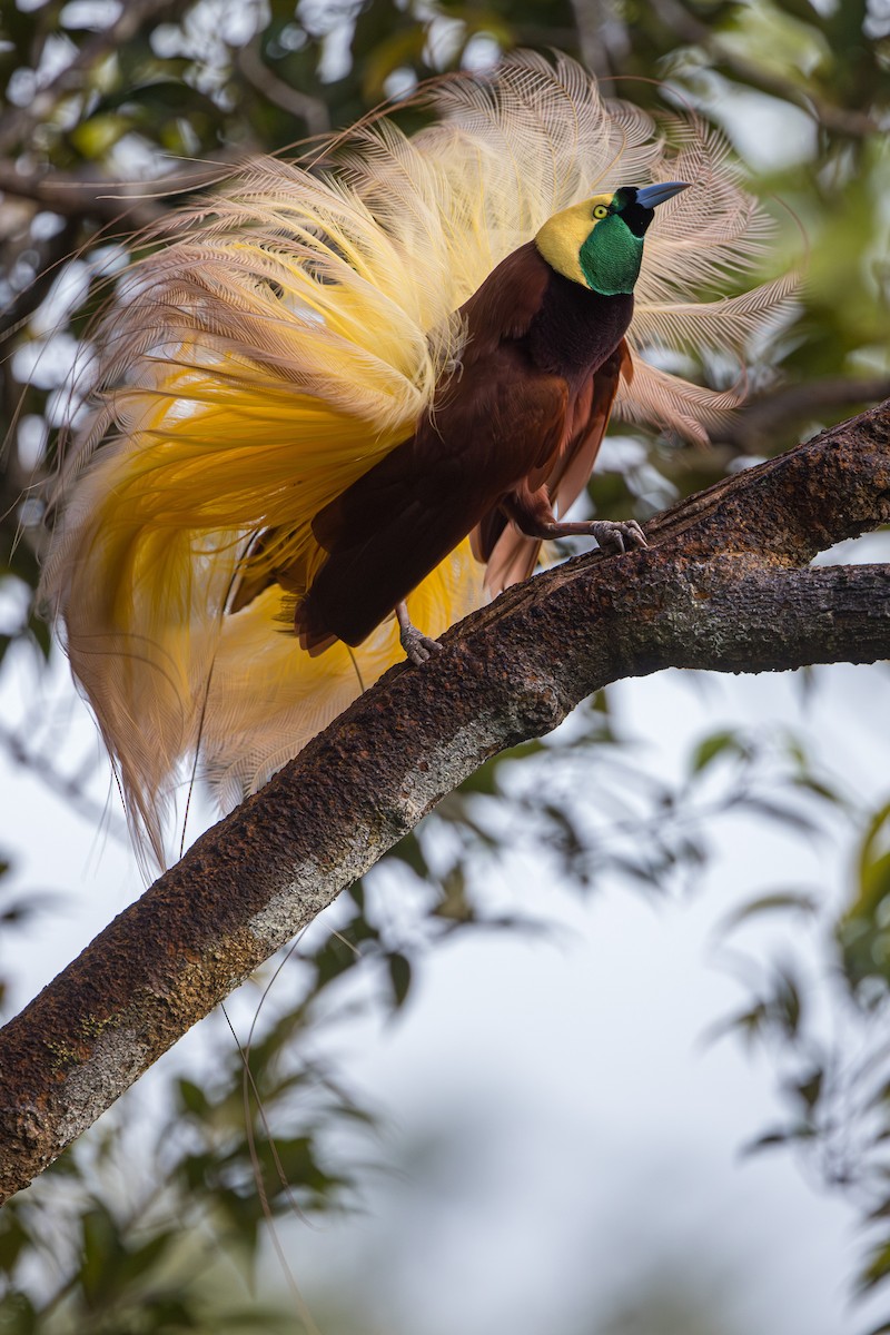
[[[890,403],[681,503],[652,546],[508,590],[398,668],[208,830],[0,1032],[0,1199],[496,752],[660,668],[890,657],[890,566],[822,566],[890,522]]]

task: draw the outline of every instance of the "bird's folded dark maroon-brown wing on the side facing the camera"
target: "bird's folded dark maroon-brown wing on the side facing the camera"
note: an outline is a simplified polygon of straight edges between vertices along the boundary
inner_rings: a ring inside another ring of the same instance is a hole
[[[328,558],[296,610],[300,642],[360,643],[474,529],[498,498],[551,466],[566,431],[562,376],[523,336],[551,270],[534,243],[514,251],[462,307],[467,344],[416,434],[322,510]]]

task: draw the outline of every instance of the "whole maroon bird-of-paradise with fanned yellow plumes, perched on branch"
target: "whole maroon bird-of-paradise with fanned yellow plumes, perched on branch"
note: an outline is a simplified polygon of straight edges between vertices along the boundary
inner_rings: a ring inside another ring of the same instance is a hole
[[[259,788],[402,657],[394,613],[422,661],[542,539],[642,543],[560,518],[612,406],[702,438],[737,402],[644,350],[741,352],[790,292],[697,299],[767,223],[694,120],[528,53],[430,103],[244,167],[99,331],[43,591],[160,861],[184,762]]]

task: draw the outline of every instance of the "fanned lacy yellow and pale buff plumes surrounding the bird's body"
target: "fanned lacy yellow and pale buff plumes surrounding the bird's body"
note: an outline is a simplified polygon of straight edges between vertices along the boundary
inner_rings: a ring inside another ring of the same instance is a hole
[[[412,435],[460,360],[455,312],[500,259],[594,192],[695,182],[647,234],[643,356],[618,400],[691,437],[734,395],[646,366],[646,347],[741,351],[789,299],[767,284],[697,300],[751,270],[765,235],[697,123],[656,125],[603,101],[572,61],[528,53],[446,80],[430,103],[430,128],[360,124],[327,146],[324,170],[238,171],[152,238],[97,332],[93,414],[61,467],[43,594],[159,861],[196,752],[231,805],[400,659],[392,625],[310,658],[282,619],[298,590],[268,581],[283,566],[311,581],[314,515]],[[230,611],[242,578],[263,591]],[[464,542],[410,610],[435,637],[483,599]]]

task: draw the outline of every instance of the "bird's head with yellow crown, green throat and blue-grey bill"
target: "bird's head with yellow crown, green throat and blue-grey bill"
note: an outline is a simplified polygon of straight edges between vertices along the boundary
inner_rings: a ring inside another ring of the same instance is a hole
[[[547,263],[603,296],[632,292],[643,258],[643,236],[658,204],[689,183],[622,186],[614,195],[592,195],[548,218],[535,236]]]

